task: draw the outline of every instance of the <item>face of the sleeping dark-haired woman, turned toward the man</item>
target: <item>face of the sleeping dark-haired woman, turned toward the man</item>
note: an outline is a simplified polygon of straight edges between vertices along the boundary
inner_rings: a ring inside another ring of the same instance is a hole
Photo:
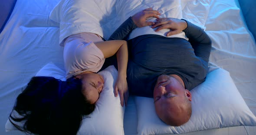
[[[96,103],[104,86],[104,79],[100,74],[85,72],[76,76],[82,80],[82,93],[90,103]]]

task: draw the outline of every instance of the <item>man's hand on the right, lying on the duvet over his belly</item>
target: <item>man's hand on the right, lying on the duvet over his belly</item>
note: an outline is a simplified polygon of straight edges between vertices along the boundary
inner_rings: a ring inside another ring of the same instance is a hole
[[[161,29],[170,29],[171,31],[167,33],[167,36],[175,35],[181,33],[187,28],[187,22],[182,19],[176,18],[160,18],[152,26],[152,28],[158,27],[155,31],[158,32]]]

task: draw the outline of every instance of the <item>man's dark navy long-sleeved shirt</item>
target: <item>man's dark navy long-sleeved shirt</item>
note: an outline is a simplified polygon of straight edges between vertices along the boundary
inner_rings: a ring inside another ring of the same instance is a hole
[[[131,18],[129,19],[112,34],[110,40],[123,39],[136,28]],[[188,27],[184,32],[190,42],[161,35],[141,35],[128,41],[129,93],[153,97],[154,85],[161,74],[177,74],[188,90],[205,80],[211,40],[202,29],[187,23]]]

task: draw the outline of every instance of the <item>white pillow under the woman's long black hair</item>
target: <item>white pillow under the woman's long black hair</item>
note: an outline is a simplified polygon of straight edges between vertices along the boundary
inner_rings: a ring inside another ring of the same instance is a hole
[[[82,125],[77,135],[124,135],[123,120],[125,107],[121,106],[119,96],[115,97],[113,93],[118,71],[114,66],[109,66],[98,74],[101,74],[105,80],[102,93],[96,102],[95,110],[90,114],[90,118],[82,120]],[[65,71],[55,64],[49,63],[36,76],[50,76],[65,80]],[[14,115],[17,114],[15,113]],[[17,130],[10,123],[9,119],[5,125],[5,129],[6,131]]]

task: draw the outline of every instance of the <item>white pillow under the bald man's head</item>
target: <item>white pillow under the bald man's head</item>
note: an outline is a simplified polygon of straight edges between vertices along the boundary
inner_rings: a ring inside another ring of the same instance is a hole
[[[153,98],[135,97],[138,134],[181,134],[239,125],[256,125],[256,117],[236,89],[229,72],[219,68],[206,81],[190,90],[192,116],[179,127],[166,125],[155,113]]]

